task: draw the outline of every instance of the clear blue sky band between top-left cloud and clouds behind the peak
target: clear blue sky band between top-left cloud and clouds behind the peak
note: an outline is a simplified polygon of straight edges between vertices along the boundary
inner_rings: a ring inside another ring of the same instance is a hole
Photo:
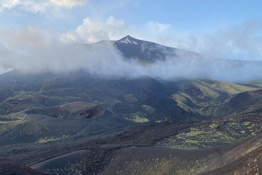
[[[105,1],[90,0],[84,6],[62,9],[61,14],[31,13],[18,7],[1,12],[0,24],[8,27],[43,25],[66,32],[82,24],[84,18],[105,20],[109,16],[123,19],[132,25],[143,25],[149,21],[171,24],[187,31],[240,24],[250,19],[262,19],[262,1]],[[65,12],[65,13],[64,13]],[[58,23],[58,24],[57,24]]]

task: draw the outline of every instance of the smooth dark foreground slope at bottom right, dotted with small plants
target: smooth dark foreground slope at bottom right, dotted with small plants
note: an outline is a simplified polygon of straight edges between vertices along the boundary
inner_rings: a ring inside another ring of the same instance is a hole
[[[219,147],[183,150],[130,147],[116,151],[103,174],[260,174],[261,133]]]

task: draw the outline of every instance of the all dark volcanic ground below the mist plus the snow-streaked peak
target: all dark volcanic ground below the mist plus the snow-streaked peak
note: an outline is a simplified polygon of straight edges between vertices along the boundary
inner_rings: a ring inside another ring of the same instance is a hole
[[[130,36],[111,43],[142,64],[179,55]],[[0,82],[1,174],[262,173],[259,80],[13,70]]]

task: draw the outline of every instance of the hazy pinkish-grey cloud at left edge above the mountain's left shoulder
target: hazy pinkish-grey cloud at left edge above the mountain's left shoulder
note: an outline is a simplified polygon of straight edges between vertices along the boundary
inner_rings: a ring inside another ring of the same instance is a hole
[[[40,54],[58,44],[56,33],[40,27],[0,28],[0,59]]]

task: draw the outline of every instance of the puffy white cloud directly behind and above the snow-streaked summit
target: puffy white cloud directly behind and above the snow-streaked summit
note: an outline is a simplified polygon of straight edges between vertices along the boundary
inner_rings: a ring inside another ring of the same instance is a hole
[[[124,20],[117,20],[110,16],[105,21],[93,21],[90,18],[83,20],[83,24],[74,30],[60,36],[60,41],[70,43],[94,43],[101,40],[118,40],[126,35],[138,39],[150,39],[159,36],[170,28],[170,24],[148,22],[142,26],[127,25]]]

